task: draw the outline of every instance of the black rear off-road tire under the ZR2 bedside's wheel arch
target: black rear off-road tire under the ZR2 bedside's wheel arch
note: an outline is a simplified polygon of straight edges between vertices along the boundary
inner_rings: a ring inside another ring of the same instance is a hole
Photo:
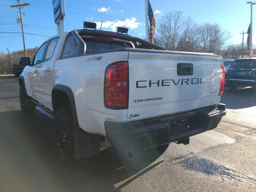
[[[59,107],[54,114],[53,140],[57,157],[63,165],[77,166],[88,160],[88,158],[76,159],[74,157],[74,132],[69,106]],[[63,145],[64,148],[61,149]]]

